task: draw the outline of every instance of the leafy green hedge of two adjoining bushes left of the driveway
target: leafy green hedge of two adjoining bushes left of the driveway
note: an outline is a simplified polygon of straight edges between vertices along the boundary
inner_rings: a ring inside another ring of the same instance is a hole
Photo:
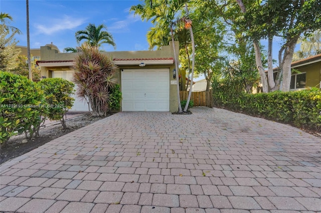
[[[62,78],[47,78],[38,83],[22,75],[0,71],[0,146],[11,136],[25,132],[38,136],[47,119],[61,120],[72,107],[74,84]]]

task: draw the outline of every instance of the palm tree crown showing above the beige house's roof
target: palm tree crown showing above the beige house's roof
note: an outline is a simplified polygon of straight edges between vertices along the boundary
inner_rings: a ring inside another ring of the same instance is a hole
[[[89,23],[85,30],[77,31],[75,37],[78,44],[81,40],[85,39],[91,46],[100,47],[103,43],[108,43],[116,48],[115,41],[104,24],[96,26],[94,23]]]

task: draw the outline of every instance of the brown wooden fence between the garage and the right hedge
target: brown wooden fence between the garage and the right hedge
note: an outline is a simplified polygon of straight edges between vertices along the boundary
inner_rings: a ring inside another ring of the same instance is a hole
[[[181,100],[187,100],[189,91],[180,91]],[[213,95],[210,91],[193,91],[191,100],[194,101],[194,106],[208,106],[213,107]]]

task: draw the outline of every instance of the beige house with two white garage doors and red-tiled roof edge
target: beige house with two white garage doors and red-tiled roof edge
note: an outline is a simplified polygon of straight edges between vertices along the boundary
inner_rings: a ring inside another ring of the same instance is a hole
[[[177,41],[176,41],[177,42]],[[178,42],[175,43],[178,53]],[[60,53],[53,44],[41,46],[41,75],[72,79],[73,59],[76,52]],[[105,52],[118,68],[115,77],[121,87],[121,111],[177,111],[178,78],[172,43],[160,50]],[[178,55],[177,55],[178,58]],[[183,73],[185,76],[185,73]],[[71,111],[88,111],[88,104],[76,97]]]

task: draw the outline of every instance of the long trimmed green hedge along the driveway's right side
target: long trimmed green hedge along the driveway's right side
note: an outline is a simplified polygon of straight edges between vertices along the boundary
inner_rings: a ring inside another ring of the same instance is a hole
[[[297,127],[321,130],[321,91],[213,94],[214,105],[292,123]]]

